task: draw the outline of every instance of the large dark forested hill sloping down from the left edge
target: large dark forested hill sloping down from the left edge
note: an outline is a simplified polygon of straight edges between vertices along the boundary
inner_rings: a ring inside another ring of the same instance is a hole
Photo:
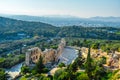
[[[57,27],[41,22],[27,22],[0,17],[0,40],[14,40],[18,33],[25,33],[27,36],[43,35],[55,36]]]

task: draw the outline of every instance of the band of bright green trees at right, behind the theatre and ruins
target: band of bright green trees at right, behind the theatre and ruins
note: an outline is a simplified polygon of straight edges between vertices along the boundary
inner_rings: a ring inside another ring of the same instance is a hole
[[[84,38],[66,38],[67,45],[89,47],[93,49],[102,49],[105,52],[120,52],[119,40],[101,40],[101,39],[84,39]]]

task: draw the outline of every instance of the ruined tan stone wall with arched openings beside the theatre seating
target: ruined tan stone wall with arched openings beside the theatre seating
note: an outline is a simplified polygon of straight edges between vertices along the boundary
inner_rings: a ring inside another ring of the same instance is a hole
[[[64,39],[61,39],[61,42],[58,45],[57,49],[46,49],[43,52],[38,47],[28,49],[28,51],[26,52],[25,64],[27,66],[30,66],[31,64],[36,63],[39,60],[40,56],[43,57],[44,64],[58,61],[58,58],[63,52],[65,46],[66,46],[66,41]]]

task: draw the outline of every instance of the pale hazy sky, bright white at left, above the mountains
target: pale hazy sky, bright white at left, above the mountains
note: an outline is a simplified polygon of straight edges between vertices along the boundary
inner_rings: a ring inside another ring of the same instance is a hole
[[[0,0],[0,13],[120,17],[120,0]]]

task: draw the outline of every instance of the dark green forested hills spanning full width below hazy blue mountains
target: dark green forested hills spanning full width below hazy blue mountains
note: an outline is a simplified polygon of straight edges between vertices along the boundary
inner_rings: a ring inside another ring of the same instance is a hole
[[[120,28],[115,27],[84,27],[75,25],[56,27],[43,22],[30,22],[0,17],[0,41],[20,40],[34,36],[120,40],[119,33]]]

